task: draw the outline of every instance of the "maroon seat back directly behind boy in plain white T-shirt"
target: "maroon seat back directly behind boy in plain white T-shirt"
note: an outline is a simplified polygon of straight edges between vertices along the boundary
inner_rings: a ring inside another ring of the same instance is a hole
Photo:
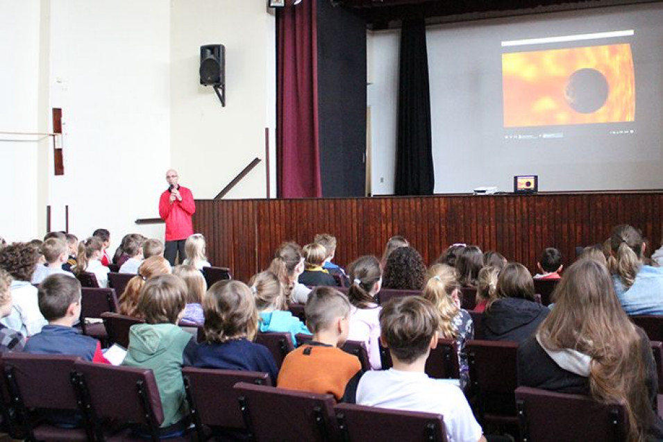
[[[338,404],[334,408],[341,440],[446,442],[442,415]]]

